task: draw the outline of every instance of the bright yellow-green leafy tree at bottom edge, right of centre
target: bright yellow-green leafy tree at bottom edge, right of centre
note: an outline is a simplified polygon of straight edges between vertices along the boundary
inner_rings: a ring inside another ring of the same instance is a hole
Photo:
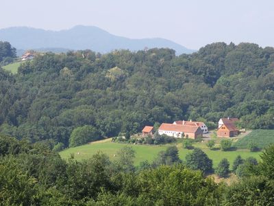
[[[138,174],[139,197],[145,205],[220,205],[222,188],[200,171],[184,165],[161,165]]]

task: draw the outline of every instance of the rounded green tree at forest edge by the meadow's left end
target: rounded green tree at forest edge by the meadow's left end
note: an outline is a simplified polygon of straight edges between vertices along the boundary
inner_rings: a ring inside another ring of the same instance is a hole
[[[87,144],[90,141],[95,141],[101,138],[97,129],[93,126],[80,126],[73,130],[69,139],[69,146],[75,147],[82,144]]]

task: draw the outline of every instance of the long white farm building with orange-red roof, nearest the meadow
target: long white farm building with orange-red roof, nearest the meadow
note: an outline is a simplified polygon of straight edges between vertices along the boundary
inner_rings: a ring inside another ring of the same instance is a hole
[[[159,135],[168,135],[169,137],[188,137],[196,139],[197,137],[203,137],[203,131],[199,126],[190,126],[182,124],[166,124],[163,123],[158,129]]]

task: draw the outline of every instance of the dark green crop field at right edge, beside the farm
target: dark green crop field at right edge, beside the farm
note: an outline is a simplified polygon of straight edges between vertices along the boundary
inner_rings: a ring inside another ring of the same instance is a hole
[[[253,130],[251,133],[236,141],[237,148],[247,148],[250,142],[255,143],[258,148],[266,148],[269,144],[274,144],[274,130]]]

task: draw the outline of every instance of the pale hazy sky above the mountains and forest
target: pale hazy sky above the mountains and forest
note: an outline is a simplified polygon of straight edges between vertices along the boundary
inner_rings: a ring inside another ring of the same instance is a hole
[[[96,25],[129,38],[167,38],[190,49],[216,41],[274,47],[273,0],[1,0],[0,5],[0,28]]]

